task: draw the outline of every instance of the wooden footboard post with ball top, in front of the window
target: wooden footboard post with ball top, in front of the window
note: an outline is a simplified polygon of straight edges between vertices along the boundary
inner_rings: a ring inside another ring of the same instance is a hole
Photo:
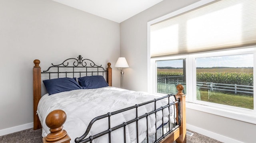
[[[179,84],[177,85],[178,93],[176,98],[180,98],[180,136],[176,139],[176,143],[186,143],[186,95],[182,92],[184,87]],[[177,113],[178,113],[178,108]],[[178,117],[178,116],[177,116]]]

